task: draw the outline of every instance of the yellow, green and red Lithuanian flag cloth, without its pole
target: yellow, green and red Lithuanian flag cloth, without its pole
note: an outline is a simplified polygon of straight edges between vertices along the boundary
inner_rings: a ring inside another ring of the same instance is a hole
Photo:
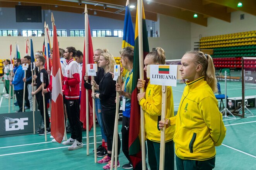
[[[140,105],[137,100],[137,82],[140,77],[139,71],[139,44],[138,44],[138,8],[136,15],[135,26],[135,45],[134,45],[134,57],[133,57],[133,82],[131,93],[131,116],[130,116],[130,131],[129,131],[129,155],[133,168],[136,168],[139,162],[142,161],[142,153],[140,146]],[[145,20],[144,7],[142,4],[142,33],[143,33],[143,58],[149,53],[147,27]],[[142,47],[140,47],[142,48]],[[144,79],[147,76],[144,72]]]

